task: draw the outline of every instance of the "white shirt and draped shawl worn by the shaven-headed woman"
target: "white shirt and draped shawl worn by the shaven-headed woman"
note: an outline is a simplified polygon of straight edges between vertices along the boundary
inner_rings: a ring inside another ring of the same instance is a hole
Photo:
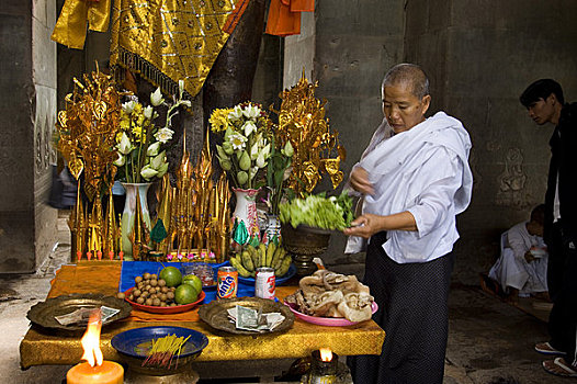
[[[467,162],[471,140],[461,122],[439,112],[373,144],[369,146],[373,150],[355,165],[367,171],[375,191],[365,196],[363,213],[386,216],[408,211],[418,229],[388,230],[383,245],[387,255],[406,263],[449,253],[459,239],[455,216],[468,206],[473,185]],[[348,251],[354,250],[352,244]]]

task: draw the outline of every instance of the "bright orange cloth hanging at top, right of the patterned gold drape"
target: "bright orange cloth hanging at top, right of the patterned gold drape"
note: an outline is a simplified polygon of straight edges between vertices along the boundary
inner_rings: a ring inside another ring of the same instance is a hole
[[[276,36],[301,33],[301,12],[314,12],[315,0],[271,0],[267,33]]]

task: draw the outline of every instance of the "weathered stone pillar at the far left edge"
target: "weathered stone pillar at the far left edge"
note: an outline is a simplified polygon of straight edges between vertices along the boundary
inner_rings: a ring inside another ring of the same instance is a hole
[[[0,273],[34,272],[56,241],[46,205],[56,116],[55,2],[9,0],[0,9]]]

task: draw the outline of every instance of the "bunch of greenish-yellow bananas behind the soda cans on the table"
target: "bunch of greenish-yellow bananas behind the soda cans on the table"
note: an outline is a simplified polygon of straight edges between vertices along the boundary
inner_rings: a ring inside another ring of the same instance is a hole
[[[230,266],[235,267],[242,278],[254,278],[257,268],[270,267],[274,269],[276,278],[288,272],[291,255],[280,245],[269,241],[269,246],[259,244],[257,248],[247,246],[240,255],[230,258]]]

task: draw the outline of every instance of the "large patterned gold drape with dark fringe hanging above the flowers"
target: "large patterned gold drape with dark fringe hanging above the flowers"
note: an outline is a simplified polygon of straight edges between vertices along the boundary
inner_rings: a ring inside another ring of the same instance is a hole
[[[249,0],[114,0],[111,65],[195,95]],[[226,32],[225,32],[226,31]]]

